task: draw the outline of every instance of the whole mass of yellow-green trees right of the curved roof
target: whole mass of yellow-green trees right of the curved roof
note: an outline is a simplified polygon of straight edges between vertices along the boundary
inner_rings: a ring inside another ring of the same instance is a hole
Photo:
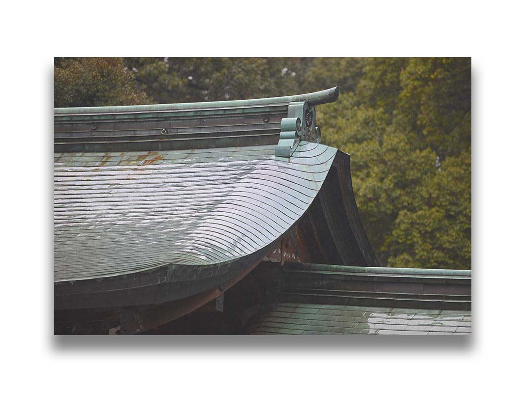
[[[469,59],[366,59],[355,94],[320,107],[318,123],[352,156],[383,264],[470,268]]]

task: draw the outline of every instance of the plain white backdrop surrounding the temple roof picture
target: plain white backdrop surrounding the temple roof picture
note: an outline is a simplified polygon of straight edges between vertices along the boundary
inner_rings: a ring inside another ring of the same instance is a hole
[[[4,4],[5,391],[517,390],[524,349],[522,18],[518,2],[507,1]],[[54,56],[472,57],[470,340],[54,337]]]

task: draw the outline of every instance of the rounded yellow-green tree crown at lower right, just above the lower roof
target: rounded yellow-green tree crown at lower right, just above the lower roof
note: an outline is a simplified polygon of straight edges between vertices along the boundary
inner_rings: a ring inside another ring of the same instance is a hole
[[[385,247],[400,267],[470,268],[471,152],[449,158],[419,184],[408,209],[399,212]]]

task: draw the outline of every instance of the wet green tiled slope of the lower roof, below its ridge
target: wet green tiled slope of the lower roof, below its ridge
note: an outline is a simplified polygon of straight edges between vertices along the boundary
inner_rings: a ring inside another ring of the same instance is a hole
[[[467,310],[400,309],[341,304],[280,303],[259,316],[248,334],[464,335],[472,330]]]

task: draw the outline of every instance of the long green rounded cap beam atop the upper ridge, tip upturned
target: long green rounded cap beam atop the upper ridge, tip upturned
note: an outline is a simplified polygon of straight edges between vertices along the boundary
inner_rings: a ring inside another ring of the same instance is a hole
[[[76,108],[55,108],[56,115],[70,114],[103,114],[120,112],[154,112],[154,111],[176,111],[188,109],[224,108],[236,106],[254,106],[270,104],[289,104],[291,102],[304,101],[311,105],[327,104],[336,102],[339,98],[339,86],[314,93],[289,95],[283,97],[270,97],[252,100],[214,101],[214,102],[190,102],[181,104],[154,104],[154,105],[126,105],[126,106],[88,106]]]

